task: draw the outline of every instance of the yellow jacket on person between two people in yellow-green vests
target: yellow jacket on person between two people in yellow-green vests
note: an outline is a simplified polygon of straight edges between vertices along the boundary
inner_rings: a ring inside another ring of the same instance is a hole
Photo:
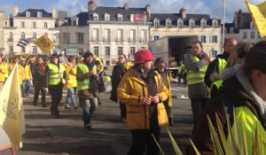
[[[77,87],[77,81],[76,81],[76,66],[71,68],[70,66],[66,65],[66,89],[71,89],[74,87]]]

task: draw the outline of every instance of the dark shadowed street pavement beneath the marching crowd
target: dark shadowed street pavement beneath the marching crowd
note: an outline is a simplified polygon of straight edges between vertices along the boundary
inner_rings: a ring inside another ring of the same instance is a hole
[[[66,94],[66,93],[65,93]],[[173,134],[182,151],[188,145],[192,131],[192,112],[187,89],[173,85],[175,127],[168,129]],[[125,121],[120,120],[119,105],[108,98],[108,92],[101,94],[102,105],[92,116],[92,131],[86,131],[82,124],[82,109],[65,110],[60,106],[61,119],[50,115],[50,108],[33,106],[32,94],[24,98],[27,133],[23,136],[23,148],[20,155],[41,154],[90,154],[90,155],[125,155],[130,147],[130,133]],[[47,97],[48,103],[51,97]],[[65,99],[63,99],[65,101]],[[175,154],[162,128],[160,144],[166,154]]]

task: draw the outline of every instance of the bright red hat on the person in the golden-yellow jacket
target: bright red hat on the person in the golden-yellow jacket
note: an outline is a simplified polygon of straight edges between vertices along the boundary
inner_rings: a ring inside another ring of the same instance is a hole
[[[147,61],[153,61],[154,57],[150,50],[137,50],[134,54],[135,64],[143,64]]]

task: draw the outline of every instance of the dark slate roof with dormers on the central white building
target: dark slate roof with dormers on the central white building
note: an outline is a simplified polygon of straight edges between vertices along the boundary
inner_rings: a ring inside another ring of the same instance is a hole
[[[117,15],[121,14],[123,16],[123,21],[130,21],[130,15],[136,13],[145,13],[145,8],[129,8],[125,10],[123,7],[97,7],[95,11],[89,12],[89,20],[93,20],[93,14],[98,13],[98,20],[105,20],[105,14],[110,15],[110,21],[117,21]],[[146,19],[149,21],[149,19]]]

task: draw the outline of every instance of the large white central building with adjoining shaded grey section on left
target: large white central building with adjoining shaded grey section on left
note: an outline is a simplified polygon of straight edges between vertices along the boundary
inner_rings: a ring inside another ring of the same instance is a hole
[[[150,7],[98,7],[90,1],[89,12],[66,19],[60,27],[60,49],[90,50],[107,66],[114,65],[121,53],[133,59],[135,51],[148,48]]]

